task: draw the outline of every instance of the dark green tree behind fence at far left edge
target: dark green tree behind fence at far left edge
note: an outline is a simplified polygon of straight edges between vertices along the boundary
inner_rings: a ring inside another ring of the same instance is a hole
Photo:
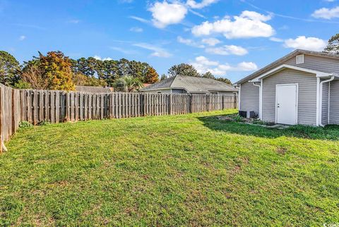
[[[13,86],[19,80],[20,66],[11,54],[0,51],[0,83]]]

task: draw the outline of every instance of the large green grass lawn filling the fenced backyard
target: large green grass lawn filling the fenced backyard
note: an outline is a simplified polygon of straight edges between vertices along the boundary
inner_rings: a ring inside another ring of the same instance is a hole
[[[339,128],[234,110],[23,128],[0,155],[0,225],[339,224]]]

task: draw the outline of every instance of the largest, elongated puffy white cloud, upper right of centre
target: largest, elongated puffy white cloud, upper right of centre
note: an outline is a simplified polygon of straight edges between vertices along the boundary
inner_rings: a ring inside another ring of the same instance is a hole
[[[270,37],[274,35],[275,31],[272,26],[264,23],[270,18],[269,15],[244,11],[240,16],[234,16],[233,20],[225,17],[213,23],[206,21],[201,25],[194,26],[191,31],[196,36],[222,33],[227,39]]]

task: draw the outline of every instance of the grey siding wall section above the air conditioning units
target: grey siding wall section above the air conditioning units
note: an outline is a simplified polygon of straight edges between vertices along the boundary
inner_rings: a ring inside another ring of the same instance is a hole
[[[259,114],[259,87],[251,82],[244,82],[240,92],[240,110],[255,111]]]

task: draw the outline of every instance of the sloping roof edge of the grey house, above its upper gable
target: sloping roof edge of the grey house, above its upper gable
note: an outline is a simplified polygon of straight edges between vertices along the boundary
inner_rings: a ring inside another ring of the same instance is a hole
[[[273,61],[273,63],[270,63],[269,65],[257,70],[256,72],[252,73],[251,75],[248,75],[245,78],[242,78],[242,80],[235,82],[234,85],[239,85],[243,82],[246,82],[246,81],[249,81],[253,78],[256,78],[261,73],[265,73],[267,70],[276,68],[277,66],[279,66],[284,61],[287,61],[288,59],[291,59],[292,57],[297,56],[299,54],[309,54],[309,55],[324,56],[324,57],[339,59],[339,55],[337,55],[337,54],[328,54],[328,53],[319,52],[319,51],[308,51],[308,50],[304,50],[304,49],[296,49],[295,51],[292,51],[290,54],[283,56],[282,58],[278,59],[277,61]]]

